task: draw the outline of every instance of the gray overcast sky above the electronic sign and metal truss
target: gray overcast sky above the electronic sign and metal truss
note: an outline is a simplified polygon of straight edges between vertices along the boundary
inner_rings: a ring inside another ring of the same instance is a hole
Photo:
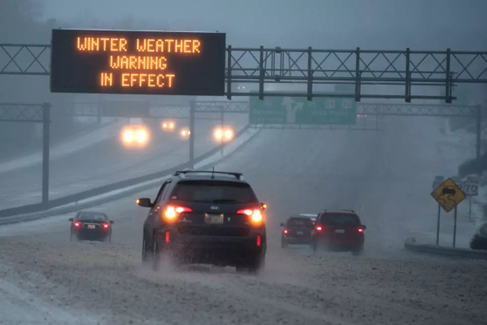
[[[487,0],[47,0],[46,18],[91,27],[132,17],[227,32],[232,45],[487,49]],[[62,24],[63,26],[63,24]]]

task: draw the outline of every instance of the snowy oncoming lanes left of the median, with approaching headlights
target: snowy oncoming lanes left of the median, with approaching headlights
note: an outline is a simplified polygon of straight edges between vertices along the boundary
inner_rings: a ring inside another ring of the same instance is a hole
[[[228,114],[226,119],[241,129],[248,118],[243,114]],[[197,120],[195,157],[214,148],[211,130],[217,120]],[[184,163],[189,159],[189,141],[179,133],[157,134],[153,130],[153,145],[144,150],[126,150],[118,137],[102,141],[71,155],[51,161],[50,198],[56,199],[99,186],[143,176]],[[42,167],[0,173],[0,209],[39,203],[42,189]]]

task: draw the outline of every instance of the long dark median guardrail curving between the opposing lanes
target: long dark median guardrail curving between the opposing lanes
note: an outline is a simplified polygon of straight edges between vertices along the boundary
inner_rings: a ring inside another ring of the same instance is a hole
[[[248,128],[250,128],[250,124],[245,125],[239,132],[237,132],[235,137],[237,138],[240,135],[242,135]],[[222,148],[224,148],[226,145],[227,144],[222,144],[222,145],[216,146],[215,148],[211,149],[210,151],[207,151],[206,153],[196,157],[194,159],[194,163],[195,164],[199,163],[199,162],[203,161],[204,159],[211,157],[215,153],[222,150]],[[12,216],[32,214],[32,213],[37,213],[37,212],[40,213],[40,212],[43,212],[43,211],[46,211],[49,209],[65,206],[68,204],[76,203],[78,201],[89,199],[91,197],[95,197],[95,196],[99,196],[99,195],[102,195],[105,193],[109,193],[109,192],[112,192],[112,191],[115,191],[115,190],[118,190],[118,189],[121,189],[124,187],[134,186],[134,185],[144,183],[144,182],[147,182],[147,181],[150,181],[153,179],[161,178],[167,174],[174,172],[175,170],[180,170],[180,169],[184,169],[184,168],[188,168],[188,167],[191,167],[189,161],[187,161],[183,164],[171,167],[169,169],[163,170],[163,171],[159,171],[159,172],[155,172],[155,173],[151,173],[151,174],[143,175],[143,176],[139,176],[139,177],[134,177],[134,178],[131,178],[128,180],[124,180],[124,181],[100,186],[100,187],[97,187],[97,188],[94,188],[91,190],[83,191],[81,193],[72,194],[72,195],[62,197],[62,198],[54,199],[54,200],[49,201],[47,203],[47,205],[42,204],[42,203],[35,203],[35,204],[30,204],[30,205],[26,205],[26,206],[22,206],[22,207],[15,207],[15,208],[0,210],[0,217],[12,217]]]

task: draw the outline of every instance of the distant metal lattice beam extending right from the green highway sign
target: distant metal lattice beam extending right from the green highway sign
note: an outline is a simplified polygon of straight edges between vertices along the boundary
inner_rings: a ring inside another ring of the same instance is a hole
[[[478,109],[479,106],[360,103],[357,105],[357,114],[477,117]]]

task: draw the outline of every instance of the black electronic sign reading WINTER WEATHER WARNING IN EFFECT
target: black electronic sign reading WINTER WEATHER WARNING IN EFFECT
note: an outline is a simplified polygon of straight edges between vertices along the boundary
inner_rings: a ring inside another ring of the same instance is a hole
[[[53,29],[51,92],[225,94],[225,33]]]

